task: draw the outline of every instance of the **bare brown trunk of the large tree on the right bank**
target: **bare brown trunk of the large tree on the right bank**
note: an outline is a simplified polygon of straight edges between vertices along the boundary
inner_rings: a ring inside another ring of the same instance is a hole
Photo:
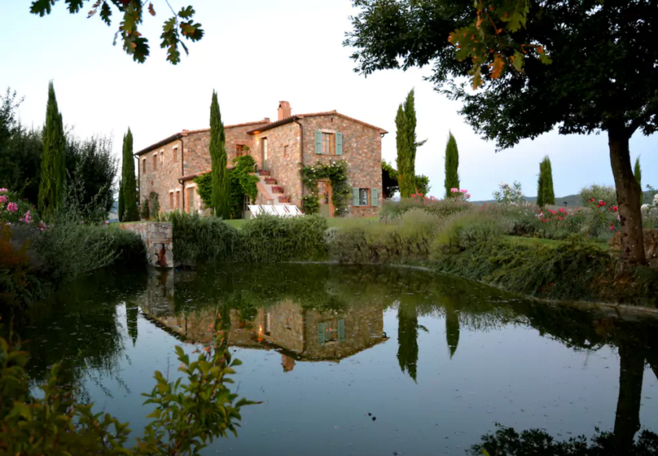
[[[610,163],[617,189],[617,206],[621,221],[620,272],[629,272],[633,267],[646,265],[644,235],[642,233],[642,212],[639,194],[642,189],[633,176],[629,135],[624,128],[608,130]]]

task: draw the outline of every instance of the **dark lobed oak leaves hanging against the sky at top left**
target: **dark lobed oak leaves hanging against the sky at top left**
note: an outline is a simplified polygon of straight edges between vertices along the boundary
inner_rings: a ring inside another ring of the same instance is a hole
[[[56,1],[58,0],[34,0],[29,12],[43,17],[51,13]],[[71,14],[76,14],[82,11],[88,1],[90,0],[65,0],[64,3],[66,3]],[[116,45],[117,38],[121,37],[123,50],[132,56],[134,61],[144,63],[150,54],[149,40],[139,32],[139,27],[143,22],[144,8],[147,8],[151,16],[156,15],[153,3],[148,2],[148,5],[146,3],[142,3],[141,0],[93,0],[87,19],[98,13],[101,20],[109,26],[112,25],[114,10],[119,10],[119,13],[123,14],[123,18],[119,23],[117,33],[114,34],[114,44]],[[182,38],[198,41],[204,37],[204,30],[201,28],[200,23],[195,23],[193,20],[195,10],[192,6],[181,8],[177,13],[171,8],[169,1],[165,0],[165,3],[169,6],[173,16],[164,21],[162,25],[162,34],[160,35],[162,43],[160,43],[160,47],[167,49],[167,60],[169,62],[178,64],[180,62],[178,47],[182,47],[185,53],[188,54],[187,46]]]

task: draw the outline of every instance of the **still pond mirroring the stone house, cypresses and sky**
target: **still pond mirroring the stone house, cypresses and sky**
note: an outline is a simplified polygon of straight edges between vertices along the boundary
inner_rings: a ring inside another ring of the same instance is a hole
[[[464,455],[496,423],[558,440],[658,432],[657,322],[533,304],[419,269],[101,273],[14,327],[30,341],[34,385],[68,360],[84,400],[141,430],[154,371],[175,379],[174,347],[195,350],[217,309],[230,314],[243,361],[232,387],[263,403],[243,409],[238,438],[206,454]]]

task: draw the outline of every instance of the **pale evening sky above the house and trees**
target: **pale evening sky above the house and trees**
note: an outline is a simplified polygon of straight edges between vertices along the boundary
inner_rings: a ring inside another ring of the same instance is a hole
[[[219,95],[224,123],[276,119],[278,101],[293,114],[338,110],[389,131],[382,156],[395,162],[395,112],[416,90],[417,173],[430,178],[430,194],[443,196],[443,156],[448,131],[460,154],[461,187],[474,200],[488,200],[500,182],[519,180],[536,195],[539,161],[552,160],[555,194],[576,193],[591,184],[613,184],[607,136],[544,134],[495,153],[457,114],[460,104],[435,92],[423,77],[430,67],[391,70],[369,77],[354,73],[350,49],[342,46],[350,29],[350,0],[169,0],[173,8],[193,4],[206,36],[189,43],[190,55],[173,66],[159,47],[167,4],[154,0],[157,16],[145,17],[143,34],[151,56],[138,64],[120,44],[112,46],[117,23],[71,15],[58,1],[50,16],[29,14],[27,0],[0,2],[0,90],[10,86],[25,96],[20,115],[42,125],[47,85],[53,80],[64,123],[79,136],[111,134],[114,152],[128,126],[135,151],[182,129],[206,128],[212,89]],[[86,3],[85,11],[90,3]],[[115,12],[114,20],[117,21]],[[637,132],[633,160],[641,155],[644,184],[658,185],[658,135]]]

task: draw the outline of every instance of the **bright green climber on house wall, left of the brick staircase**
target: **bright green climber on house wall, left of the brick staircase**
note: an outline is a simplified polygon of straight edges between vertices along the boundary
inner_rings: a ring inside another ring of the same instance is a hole
[[[229,169],[228,176],[231,181],[231,218],[242,218],[242,203],[245,195],[252,202],[256,201],[258,189],[256,182],[258,178],[254,176],[254,167],[256,161],[250,155],[243,155],[234,158],[234,168]],[[194,178],[197,184],[197,193],[206,206],[210,206],[212,197],[212,177],[210,173],[203,174]]]

